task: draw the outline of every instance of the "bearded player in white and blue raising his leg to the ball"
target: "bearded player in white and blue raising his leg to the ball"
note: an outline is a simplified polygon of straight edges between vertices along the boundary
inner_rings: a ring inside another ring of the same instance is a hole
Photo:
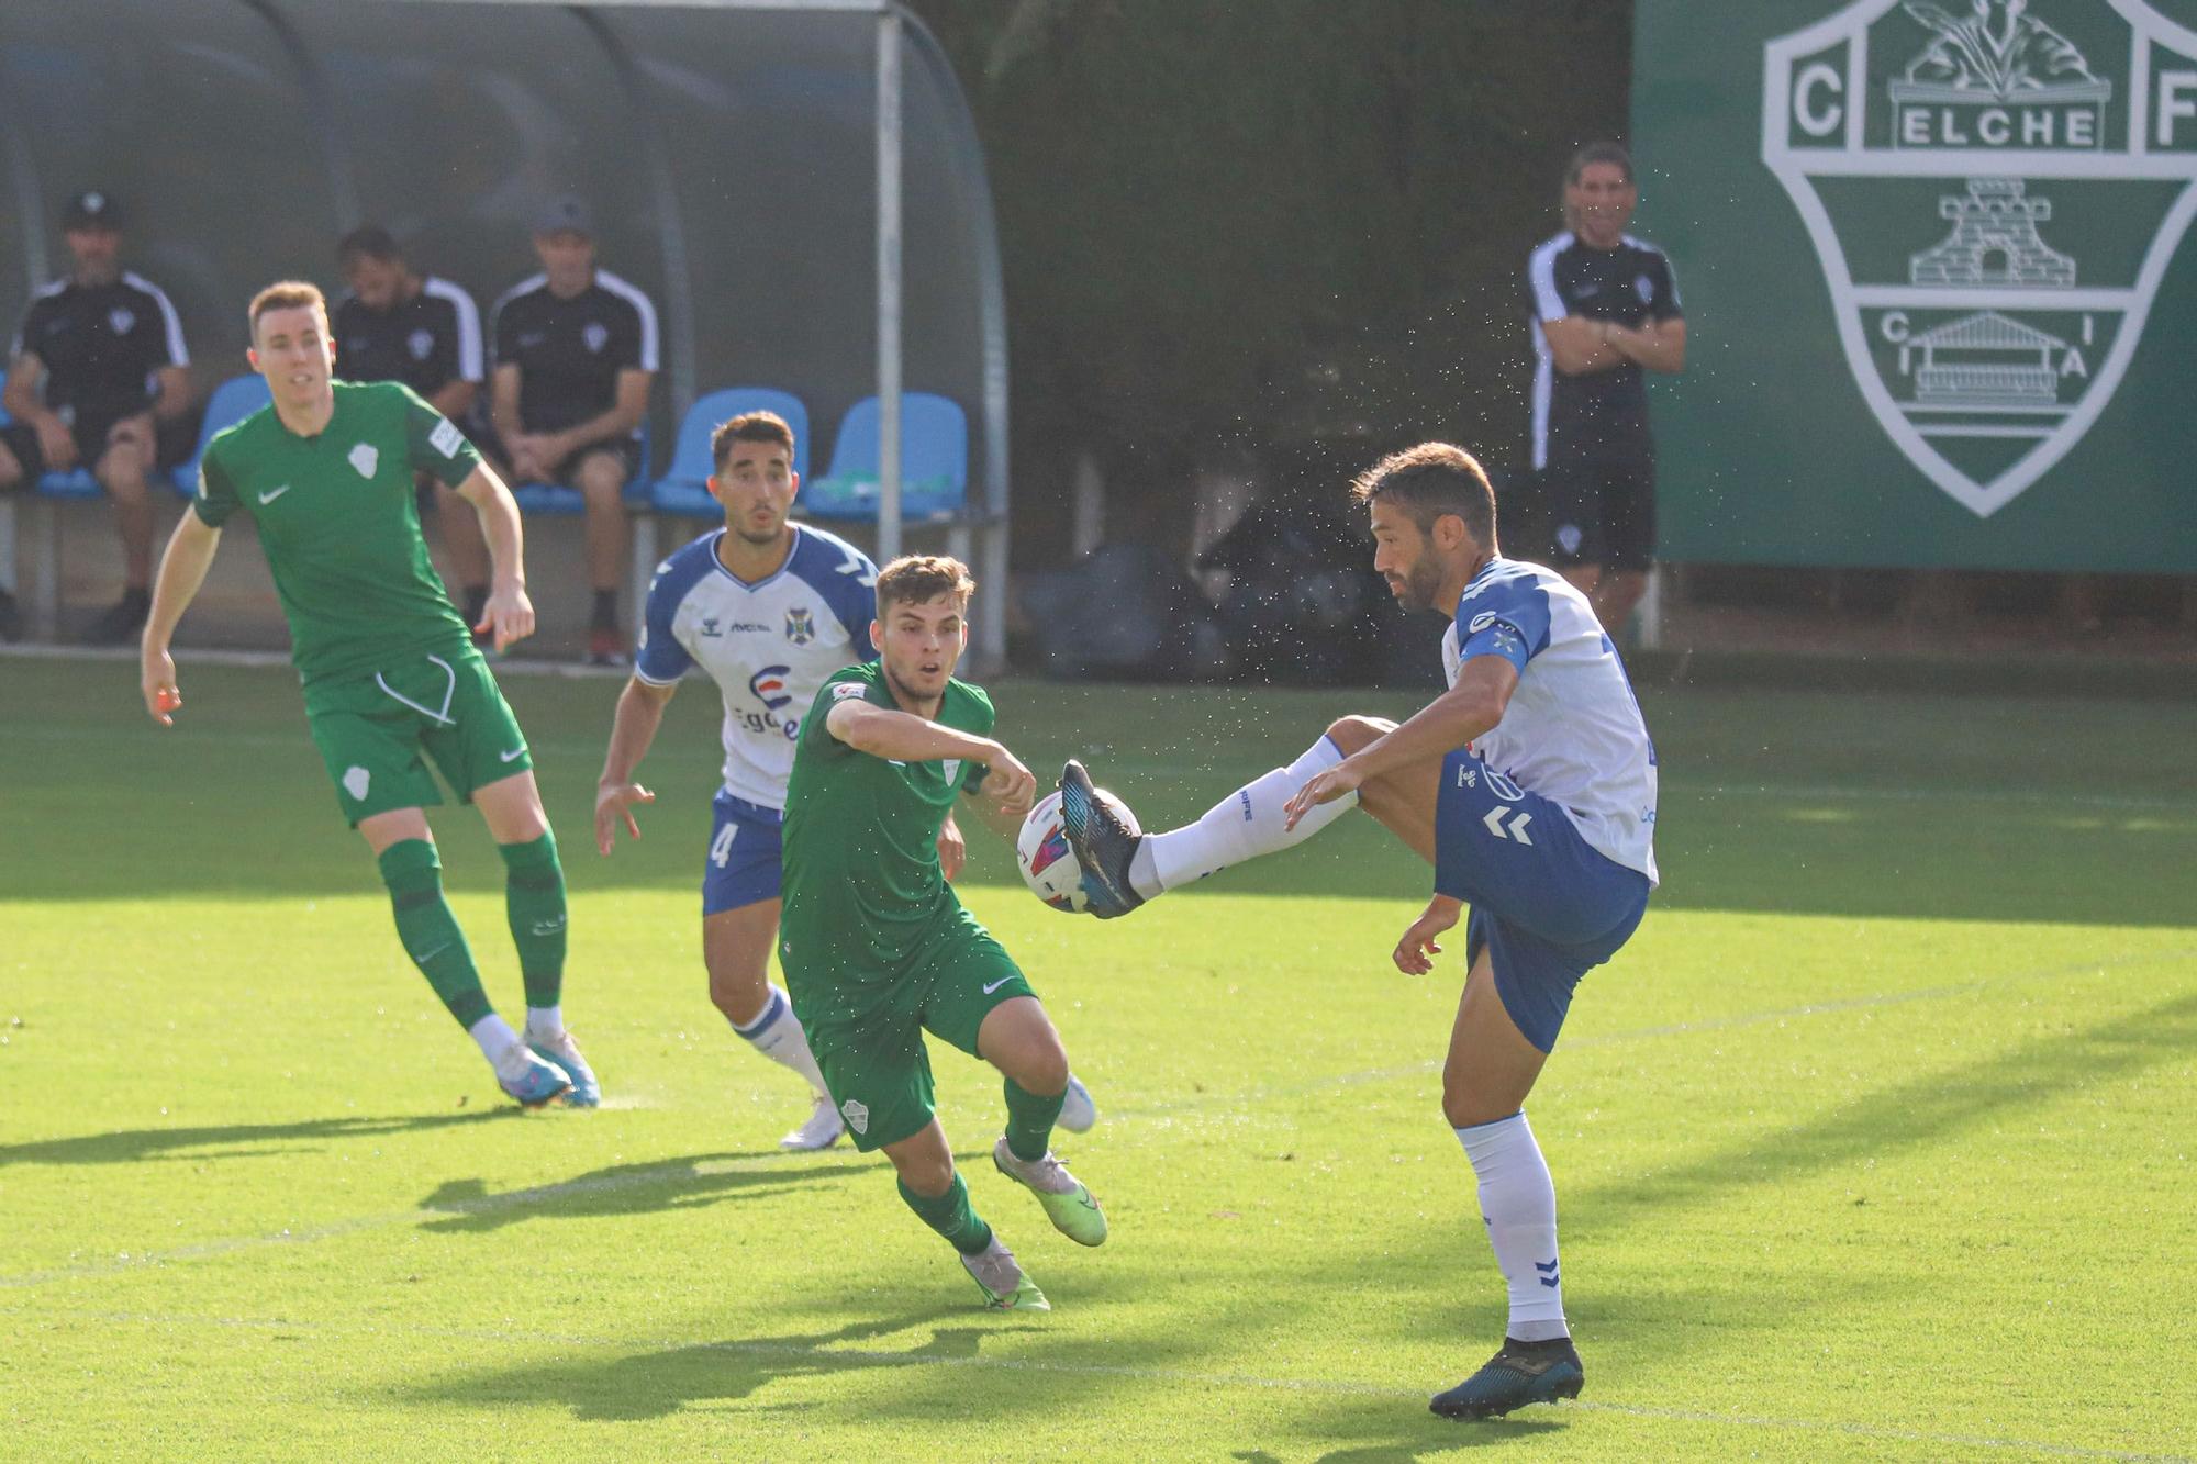
[[[1430,972],[1437,936],[1472,906],[1441,1112],[1479,1180],[1509,1326],[1496,1356],[1432,1409],[1492,1418],[1575,1398],[1586,1378],[1564,1321],[1555,1187],[1525,1097],[1580,978],[1648,910],[1654,745],[1586,598],[1544,565],[1501,556],[1494,492],[1468,453],[1446,442],[1393,453],[1353,495],[1397,602],[1450,615],[1450,690],[1402,725],[1338,719],[1290,767],[1169,833],[1131,833],[1079,763],[1061,774],[1061,811],[1101,917],[1301,844],[1351,807],[1435,868],[1435,895],[1393,952],[1397,969]]]

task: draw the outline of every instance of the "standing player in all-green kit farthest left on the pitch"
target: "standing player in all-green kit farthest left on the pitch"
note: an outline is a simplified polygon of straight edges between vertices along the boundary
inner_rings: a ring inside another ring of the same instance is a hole
[[[327,301],[310,284],[268,286],[250,306],[250,363],[272,407],[207,444],[198,501],[160,558],[145,622],[145,710],[182,706],[167,651],[213,565],[222,523],[244,510],[290,622],[305,721],[343,816],[389,886],[404,954],[481,1044],[497,1084],[527,1108],[602,1101],[565,1031],[565,870],[534,787],[525,734],[435,576],[413,470],[433,473],[481,517],[494,587],[479,631],[503,646],[534,633],[518,506],[439,411],[400,382],[334,380]],[[424,809],[442,802],[426,758],[481,809],[508,868],[505,910],[527,989],[525,1038],[481,991],[466,932],[442,897]]]

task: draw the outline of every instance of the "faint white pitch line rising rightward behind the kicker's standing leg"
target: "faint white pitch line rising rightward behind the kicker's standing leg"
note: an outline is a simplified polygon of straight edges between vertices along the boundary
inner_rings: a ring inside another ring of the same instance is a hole
[[[1802,1007],[1780,1007],[1775,1011],[1753,1011],[1753,1013],[1744,1013],[1744,1016],[1707,1018],[1707,1020],[1700,1020],[1700,1022],[1672,1022],[1672,1024],[1663,1024],[1663,1027],[1641,1027],[1641,1029],[1635,1029],[1635,1031],[1604,1033],[1599,1038],[1584,1038],[1584,1040],[1580,1040],[1575,1044],[1569,1044],[1566,1051],[1619,1046],[1619,1044],[1626,1044],[1626,1042],[1652,1042],[1652,1040],[1659,1040],[1659,1038],[1683,1038],[1683,1035],[1707,1033],[1707,1031],[1729,1031],[1729,1029],[1738,1029],[1738,1027],[1760,1027],[1764,1022],[1784,1022],[1784,1020],[1793,1020],[1793,1018],[1830,1016],[1830,1013],[1841,1013],[1841,1011],[1861,1011],[1861,1009],[1870,1009],[1870,1007],[1894,1007],[1894,1005],[1903,1005],[1903,1002],[1942,1000],[1942,998],[1951,998],[1951,996],[1971,996],[1975,991],[1984,991],[1984,989],[1993,989],[1993,987],[2004,987],[2004,985],[2012,985],[2012,983],[2023,983],[2023,980],[2059,980],[2059,978],[2070,978],[2070,976],[2094,976],[2094,974],[2103,976],[2107,972],[2144,967],[2144,965],[2166,965],[2166,963],[2190,961],[2190,958],[2197,958],[2197,950],[2168,950],[2168,952],[2153,952],[2153,954],[2142,954],[2142,956],[2120,956],[2120,958],[2109,958],[2109,961],[2083,961],[2083,963],[2067,963],[2067,965],[2050,965],[2050,967],[2039,967],[2039,969],[2032,969],[2032,972],[2008,972],[2004,976],[1988,976],[1988,978],[1982,978],[1982,980],[1969,980],[1969,983],[1944,985],[1944,987],[1920,987],[1920,989],[1914,989],[1914,991],[1885,991],[1881,996],[1856,996],[1856,998],[1834,1000],[1834,1002],[1808,1002],[1808,1005],[1802,1005]],[[1439,1068],[1441,1068],[1441,1060],[1439,1057],[1437,1060],[1421,1060],[1421,1062],[1391,1066],[1391,1068],[1369,1068],[1369,1071],[1360,1071],[1360,1073],[1336,1073],[1336,1075],[1329,1075],[1329,1077],[1318,1077],[1318,1079],[1312,1079],[1312,1082],[1305,1082],[1305,1084],[1292,1084],[1292,1086],[1281,1086],[1281,1088],[1254,1088],[1250,1093],[1235,1093],[1235,1095],[1206,1093],[1206,1095],[1200,1095],[1200,1097],[1193,1097],[1193,1099],[1186,1099],[1186,1101],[1162,1103],[1162,1106],[1156,1106],[1156,1108],[1134,1108],[1134,1106],[1129,1106],[1129,1108],[1114,1108],[1114,1110],[1107,1110],[1107,1117],[1114,1119],[1114,1121],[1125,1121],[1125,1119],[1167,1119],[1167,1117],[1191,1114],[1191,1112],[1215,1108],[1215,1106],[1244,1108],[1244,1106],[1268,1103],[1268,1101],[1274,1101],[1274,1099],[1309,1097],[1314,1093],[1327,1093],[1327,1090],[1338,1090],[1338,1088],[1356,1088],[1356,1086],[1362,1086],[1362,1084],[1389,1082],[1389,1079],[1399,1079],[1399,1077],[1417,1077],[1417,1075],[1432,1073],[1432,1071],[1439,1071]],[[18,1273],[18,1275],[0,1275],[0,1290],[22,1290],[22,1288],[48,1286],[48,1284],[55,1284],[55,1282],[81,1282],[81,1279],[94,1279],[94,1277],[112,1277],[112,1275],[125,1275],[125,1273],[132,1273],[132,1271],[143,1271],[147,1266],[171,1266],[171,1264],[180,1264],[180,1262],[211,1260],[211,1257],[220,1257],[220,1255],[235,1255],[237,1251],[257,1251],[257,1249],[266,1249],[266,1246],[314,1244],[314,1242],[321,1242],[321,1240],[338,1240],[343,1235],[356,1235],[360,1231],[373,1231],[373,1229],[384,1229],[384,1227],[393,1227],[393,1224],[420,1224],[420,1222],[442,1220],[442,1218],[453,1216],[453,1213],[499,1213],[499,1211],[510,1211],[510,1209],[532,1209],[536,1205],[551,1202],[551,1200],[562,1200],[567,1196],[609,1194],[609,1191],[620,1191],[620,1189],[635,1189],[635,1187],[644,1187],[644,1185],[657,1185],[661,1180],[677,1178],[677,1176],[692,1176],[692,1174],[736,1174],[736,1172],[740,1172],[743,1165],[749,1165],[749,1163],[784,1163],[784,1156],[778,1156],[778,1154],[758,1154],[756,1158],[727,1161],[727,1163],[718,1163],[718,1165],[705,1165],[701,1169],[696,1169],[690,1163],[655,1165],[655,1167],[648,1167],[648,1169],[633,1169],[631,1174],[613,1174],[613,1176],[604,1176],[604,1178],[565,1180],[565,1183],[558,1183],[558,1185],[534,1185],[534,1187],[527,1187],[527,1189],[508,1189],[503,1194],[488,1194],[488,1196],[468,1196],[468,1198],[457,1198],[457,1200],[444,1200],[444,1202],[437,1202],[437,1205],[422,1205],[422,1207],[415,1207],[415,1209],[384,1211],[380,1216],[354,1216],[349,1220],[330,1220],[327,1224],[299,1227],[299,1229],[281,1229],[281,1231],[272,1231],[272,1233],[266,1233],[266,1235],[226,1235],[226,1238],[220,1238],[220,1240],[204,1240],[204,1242],[189,1244],[189,1246],[176,1246],[171,1251],[121,1251],[121,1253],[116,1253],[112,1257],[97,1260],[97,1262],[79,1262],[79,1264],[73,1264],[73,1266],[51,1266],[51,1268],[44,1268],[44,1271],[24,1271],[24,1273]]]

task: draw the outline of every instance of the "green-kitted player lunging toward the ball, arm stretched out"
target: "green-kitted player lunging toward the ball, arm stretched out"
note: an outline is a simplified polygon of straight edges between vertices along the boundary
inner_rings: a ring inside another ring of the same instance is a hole
[[[1050,1310],[969,1205],[932,1110],[923,1033],[1006,1075],[991,1150],[1052,1227],[1096,1246],[1105,1211],[1052,1156],[1068,1053],[1022,969],[962,910],[938,868],[956,794],[1013,840],[1037,780],[991,739],[991,699],[953,679],[975,580],[958,558],[903,556],[877,576],[881,659],[824,681],[787,785],[778,954],[793,1011],[855,1147],[883,1150],[901,1198],[962,1257],[995,1308]]]

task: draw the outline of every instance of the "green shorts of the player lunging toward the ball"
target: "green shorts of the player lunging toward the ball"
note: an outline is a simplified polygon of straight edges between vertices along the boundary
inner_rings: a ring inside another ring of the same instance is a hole
[[[852,952],[855,943],[844,950]],[[855,963],[859,969],[859,956]],[[925,1031],[975,1057],[975,1033],[991,1009],[1037,996],[1006,947],[960,908],[940,919],[921,954],[888,980],[872,976],[855,991],[839,980],[819,991],[830,969],[833,952],[822,947],[817,961],[787,967],[787,987],[824,1086],[863,1154],[912,1139],[932,1121]]]

